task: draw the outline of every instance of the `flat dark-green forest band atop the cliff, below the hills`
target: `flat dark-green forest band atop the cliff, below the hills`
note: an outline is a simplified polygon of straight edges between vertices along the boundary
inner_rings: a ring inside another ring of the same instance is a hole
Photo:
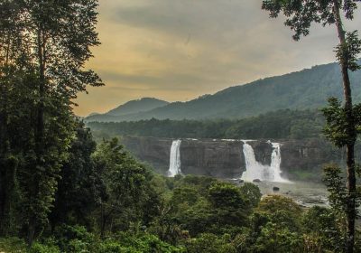
[[[238,120],[141,120],[88,122],[97,140],[112,136],[170,138],[304,139],[322,136],[324,117],[318,110],[282,109]]]

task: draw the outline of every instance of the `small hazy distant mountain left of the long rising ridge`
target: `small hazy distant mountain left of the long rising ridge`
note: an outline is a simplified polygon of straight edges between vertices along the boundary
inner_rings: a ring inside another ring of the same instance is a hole
[[[86,117],[86,121],[116,121],[116,118],[121,116],[142,113],[154,108],[161,108],[168,104],[169,102],[157,98],[141,98],[131,100],[117,108],[106,112],[105,114],[90,114],[88,117]]]

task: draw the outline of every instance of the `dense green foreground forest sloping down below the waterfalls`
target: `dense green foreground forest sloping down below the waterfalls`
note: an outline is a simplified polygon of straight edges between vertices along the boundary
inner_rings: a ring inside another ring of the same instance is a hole
[[[280,195],[261,200],[252,183],[236,186],[191,175],[165,178],[136,162],[116,139],[96,147],[81,126],[70,150],[49,223],[30,252],[265,253],[343,248],[345,220],[331,209],[301,209]],[[361,240],[356,241],[358,248]],[[0,239],[0,248],[27,250],[23,240],[14,237]]]

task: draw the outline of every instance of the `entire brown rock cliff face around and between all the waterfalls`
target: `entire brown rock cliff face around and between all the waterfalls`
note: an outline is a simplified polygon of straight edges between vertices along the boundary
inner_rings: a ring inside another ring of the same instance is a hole
[[[154,137],[123,137],[121,142],[138,159],[153,165],[158,173],[166,174],[170,164],[172,139]],[[248,141],[255,152],[255,160],[270,165],[272,144],[266,140]],[[323,164],[340,163],[342,152],[326,141],[281,141],[281,170],[289,172],[307,170],[319,172]],[[243,142],[240,140],[191,140],[180,144],[180,169],[184,174],[199,174],[220,178],[239,178],[245,171]],[[293,179],[293,178],[290,178]]]

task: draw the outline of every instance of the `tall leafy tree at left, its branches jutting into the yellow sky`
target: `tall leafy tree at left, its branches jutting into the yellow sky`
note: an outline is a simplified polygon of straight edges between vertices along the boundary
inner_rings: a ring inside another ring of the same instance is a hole
[[[61,160],[66,158],[73,135],[71,98],[87,85],[101,81],[84,63],[92,56],[91,46],[99,44],[97,0],[23,1],[26,27],[31,42],[32,64],[36,67],[38,95],[34,120],[32,176],[29,194],[28,239],[42,230],[49,213]],[[54,159],[55,158],[55,159]]]

